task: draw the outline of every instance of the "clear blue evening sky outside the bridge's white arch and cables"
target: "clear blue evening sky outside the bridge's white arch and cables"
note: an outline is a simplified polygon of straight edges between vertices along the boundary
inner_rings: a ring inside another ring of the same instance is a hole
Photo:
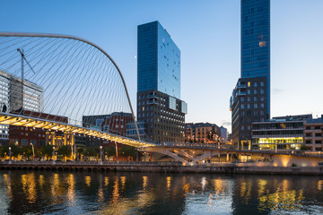
[[[70,34],[106,50],[136,95],[136,28],[159,21],[181,51],[186,122],[231,130],[240,0],[0,1],[1,31]],[[323,114],[323,1],[271,1],[271,116]]]

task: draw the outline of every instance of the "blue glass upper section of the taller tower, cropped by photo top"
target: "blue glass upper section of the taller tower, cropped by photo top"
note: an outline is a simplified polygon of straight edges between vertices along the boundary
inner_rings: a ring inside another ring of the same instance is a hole
[[[241,0],[241,78],[266,77],[270,117],[270,1]]]

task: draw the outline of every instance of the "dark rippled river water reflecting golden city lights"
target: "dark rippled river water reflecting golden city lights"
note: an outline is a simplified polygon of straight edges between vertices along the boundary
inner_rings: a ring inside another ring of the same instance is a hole
[[[0,214],[323,214],[322,176],[0,171]]]

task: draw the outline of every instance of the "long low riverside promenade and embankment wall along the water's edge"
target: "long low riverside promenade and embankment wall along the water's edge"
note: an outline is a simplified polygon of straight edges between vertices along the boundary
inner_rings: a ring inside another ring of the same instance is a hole
[[[198,165],[180,162],[54,162],[1,161],[0,170],[28,171],[100,171],[100,172],[163,172],[220,173],[323,176],[323,167],[274,167],[271,162],[207,163]]]

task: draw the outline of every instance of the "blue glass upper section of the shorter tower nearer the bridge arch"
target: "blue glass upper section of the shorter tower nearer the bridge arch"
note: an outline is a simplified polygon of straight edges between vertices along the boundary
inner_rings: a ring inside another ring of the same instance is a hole
[[[159,90],[180,99],[180,51],[160,22],[138,26],[138,92]]]

